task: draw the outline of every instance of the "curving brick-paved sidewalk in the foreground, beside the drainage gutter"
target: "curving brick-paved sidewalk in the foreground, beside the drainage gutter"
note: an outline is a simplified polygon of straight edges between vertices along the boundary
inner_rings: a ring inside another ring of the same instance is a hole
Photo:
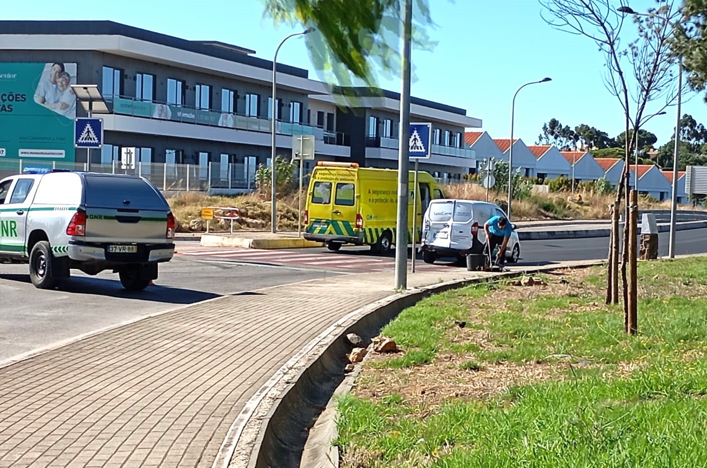
[[[0,468],[210,467],[257,388],[392,285],[361,274],[217,298],[1,368]]]

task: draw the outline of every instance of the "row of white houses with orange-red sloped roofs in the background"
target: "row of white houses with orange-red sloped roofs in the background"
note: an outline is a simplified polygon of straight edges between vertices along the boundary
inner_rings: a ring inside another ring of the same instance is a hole
[[[508,162],[510,139],[493,139],[486,131],[467,131],[464,141],[477,159],[477,170],[484,160]],[[598,180],[602,177],[612,185],[621,180],[625,161],[618,158],[595,158],[590,151],[560,151],[552,145],[526,145],[522,139],[513,140],[513,170],[520,170],[525,177],[541,180],[557,177],[573,178],[578,182]],[[631,189],[663,201],[672,197],[672,171],[661,170],[657,165],[631,164],[629,167]],[[677,202],[687,202],[685,172],[678,172]]]

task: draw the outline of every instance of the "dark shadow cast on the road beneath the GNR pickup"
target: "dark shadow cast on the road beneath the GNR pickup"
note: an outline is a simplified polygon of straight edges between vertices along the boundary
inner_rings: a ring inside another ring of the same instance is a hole
[[[30,284],[30,276],[28,274],[0,274],[0,279]],[[87,278],[86,276],[72,276],[71,279],[59,283],[59,286],[54,289],[54,291],[91,294],[94,296],[110,296],[112,298],[148,300],[168,304],[192,304],[201,300],[221,296],[215,293],[174,288],[172,286],[160,286],[159,284],[148,286],[144,291],[127,291],[127,289],[122,287],[118,279]]]

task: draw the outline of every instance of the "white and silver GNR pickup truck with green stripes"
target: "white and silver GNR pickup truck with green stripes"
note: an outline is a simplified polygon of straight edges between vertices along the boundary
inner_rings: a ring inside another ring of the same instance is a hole
[[[25,170],[0,180],[0,260],[28,263],[37,288],[54,288],[70,269],[110,269],[141,291],[172,259],[175,228],[142,177]]]

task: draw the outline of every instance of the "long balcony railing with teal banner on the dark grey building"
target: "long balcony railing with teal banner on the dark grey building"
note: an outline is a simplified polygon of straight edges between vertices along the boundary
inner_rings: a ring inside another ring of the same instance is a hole
[[[109,104],[112,103],[113,113],[118,115],[270,133],[270,119],[198,109],[187,105],[144,101],[127,96],[107,96],[106,100]],[[326,131],[312,125],[277,121],[275,122],[275,131],[281,135],[314,135],[317,141],[323,141],[325,144],[351,146],[348,134],[339,131]]]

